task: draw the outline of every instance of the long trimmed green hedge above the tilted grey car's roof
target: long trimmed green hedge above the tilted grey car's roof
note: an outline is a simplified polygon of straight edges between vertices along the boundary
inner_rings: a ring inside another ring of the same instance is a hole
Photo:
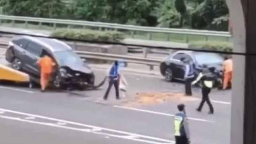
[[[116,31],[99,31],[91,29],[56,29],[51,36],[65,37],[69,39],[120,42],[124,39],[124,33]]]

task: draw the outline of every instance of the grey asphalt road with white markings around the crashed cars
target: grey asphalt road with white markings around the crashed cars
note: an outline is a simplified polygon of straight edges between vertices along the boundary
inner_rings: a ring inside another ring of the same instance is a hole
[[[95,69],[96,83],[105,70]],[[193,89],[193,98],[177,98],[151,105],[127,107],[127,102],[140,92],[182,92],[183,84],[167,83],[162,77],[123,72],[128,81],[128,94],[117,101],[114,90],[109,101],[102,96],[107,84],[98,90],[66,91],[2,83],[0,86],[1,142],[5,144],[164,144],[173,143],[173,114],[178,103],[185,103],[192,144],[229,142],[230,91],[213,90],[215,114],[195,111],[200,93]],[[198,97],[198,98],[197,98]]]

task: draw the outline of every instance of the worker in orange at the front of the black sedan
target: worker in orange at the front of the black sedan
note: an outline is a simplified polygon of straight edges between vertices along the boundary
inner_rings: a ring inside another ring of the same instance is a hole
[[[233,73],[233,60],[232,56],[225,57],[225,61],[223,62],[223,72],[224,72],[224,80],[223,80],[223,89],[228,87],[228,84],[231,84],[232,73]]]

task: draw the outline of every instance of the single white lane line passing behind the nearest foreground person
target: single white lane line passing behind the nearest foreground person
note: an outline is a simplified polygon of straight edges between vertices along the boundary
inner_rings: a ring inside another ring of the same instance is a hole
[[[121,107],[118,105],[114,105],[115,108],[121,108],[121,109],[127,109],[127,110],[134,110],[134,111],[141,111],[141,112],[147,112],[147,113],[151,113],[151,114],[157,114],[157,115],[163,115],[163,116],[170,116],[170,117],[174,117],[175,115],[173,114],[167,114],[167,113],[163,113],[163,112],[156,112],[156,111],[150,111],[150,110],[143,110],[143,109],[136,109],[136,108],[128,108],[128,107]],[[201,121],[201,122],[209,122],[209,123],[214,123],[213,121],[209,121],[206,119],[200,119],[200,118],[192,118],[192,117],[188,117],[188,119],[194,120],[194,121]]]

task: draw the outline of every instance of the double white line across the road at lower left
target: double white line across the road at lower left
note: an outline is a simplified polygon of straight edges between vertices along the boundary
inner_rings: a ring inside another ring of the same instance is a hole
[[[26,117],[38,118],[38,120],[39,119],[41,119],[41,120],[46,119],[46,120],[54,121],[53,123],[45,123],[45,122],[38,122],[38,121],[35,121],[35,120],[21,119],[19,117],[9,117],[9,116],[0,115],[0,118],[11,119],[11,120],[20,121],[20,122],[27,122],[27,123],[33,123],[33,124],[39,124],[39,125],[47,125],[47,126],[53,126],[53,127],[56,127],[56,128],[76,130],[76,131],[81,131],[81,132],[89,132],[89,133],[94,133],[94,134],[98,134],[98,135],[104,135],[104,136],[107,136],[107,137],[116,137],[116,138],[122,138],[122,139],[129,139],[129,140],[134,140],[134,141],[144,142],[144,143],[150,143],[150,144],[166,144],[166,143],[175,144],[174,141],[168,140],[168,139],[162,139],[162,138],[145,136],[145,135],[125,132],[125,131],[120,131],[120,130],[102,128],[102,127],[94,126],[94,125],[76,123],[76,122],[66,121],[66,120],[62,120],[62,119],[56,119],[56,118],[51,118],[51,117],[46,117],[46,116],[28,114],[28,113],[25,113],[25,112],[19,112],[19,111],[2,109],[2,108],[0,108],[0,111],[5,111],[5,114],[11,113],[11,114],[17,114],[17,115],[22,115],[22,116],[25,115]],[[70,125],[73,125],[73,126],[58,125],[58,124],[56,124],[57,122],[66,123],[67,125],[70,124]],[[76,128],[75,126],[82,126],[82,127],[87,128],[87,129]],[[93,129],[94,130],[103,130],[104,132],[93,131]],[[110,134],[110,133],[112,133],[112,134]]]

